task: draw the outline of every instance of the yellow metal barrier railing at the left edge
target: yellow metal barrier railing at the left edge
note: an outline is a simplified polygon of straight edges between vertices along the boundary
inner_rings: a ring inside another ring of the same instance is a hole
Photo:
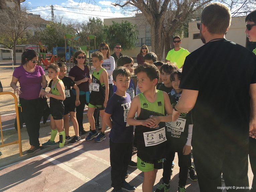
[[[10,142],[10,143],[6,143],[4,144],[4,140],[3,140],[3,130],[2,130],[2,120],[1,120],[1,113],[0,113],[0,129],[1,129],[1,139],[2,139],[2,145],[0,145],[0,147],[5,147],[8,145],[13,145],[13,144],[19,144],[19,151],[20,151],[20,157],[22,156],[22,146],[21,146],[21,136],[20,136],[20,119],[19,119],[19,110],[18,110],[18,101],[17,101],[17,97],[14,93],[12,92],[0,92],[0,95],[3,94],[10,94],[12,95],[12,97],[14,98],[14,102],[15,102],[15,111],[16,111],[16,119],[17,119],[17,128],[18,128],[18,140]]]

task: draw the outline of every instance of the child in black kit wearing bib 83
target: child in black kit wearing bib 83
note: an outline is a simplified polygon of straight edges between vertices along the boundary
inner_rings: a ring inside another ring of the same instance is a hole
[[[81,140],[79,136],[79,130],[78,130],[78,122],[76,118],[76,106],[80,105],[79,101],[79,87],[76,85],[75,81],[73,81],[70,77],[65,76],[67,73],[67,66],[62,63],[58,62],[57,65],[59,66],[59,79],[62,80],[65,86],[65,96],[66,99],[63,101],[65,112],[63,116],[64,121],[64,130],[66,135],[66,141],[69,141],[69,145],[73,145]],[[51,87],[52,80],[49,82],[49,87]],[[73,91],[71,90],[71,87],[73,87],[76,90],[76,95],[74,95]],[[69,136],[69,120],[71,119],[73,123],[73,127],[75,130],[75,136],[73,139]],[[57,130],[54,130],[57,133]],[[53,133],[53,131],[52,131]],[[49,145],[54,145],[55,142],[50,143],[48,141]]]

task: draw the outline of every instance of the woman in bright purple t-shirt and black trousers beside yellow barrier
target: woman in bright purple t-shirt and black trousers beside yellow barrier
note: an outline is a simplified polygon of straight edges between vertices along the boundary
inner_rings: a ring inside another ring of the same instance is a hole
[[[24,51],[21,55],[21,65],[12,74],[11,87],[19,96],[22,107],[22,117],[25,121],[29,143],[27,154],[40,150],[39,129],[43,110],[46,105],[45,87],[47,80],[41,66],[38,66],[38,54],[34,50]],[[20,88],[17,86],[19,81]]]

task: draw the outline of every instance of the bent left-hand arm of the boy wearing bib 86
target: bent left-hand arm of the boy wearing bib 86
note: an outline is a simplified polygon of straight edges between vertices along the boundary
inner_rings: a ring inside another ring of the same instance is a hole
[[[136,119],[134,119],[134,116],[135,116],[136,112],[139,116],[140,99],[139,99],[138,96],[135,96],[132,100],[131,107],[130,107],[130,110],[128,112],[126,121],[129,125],[143,125],[143,126],[146,126],[146,127],[153,126],[154,122],[151,119],[146,119],[146,120],[136,120]]]

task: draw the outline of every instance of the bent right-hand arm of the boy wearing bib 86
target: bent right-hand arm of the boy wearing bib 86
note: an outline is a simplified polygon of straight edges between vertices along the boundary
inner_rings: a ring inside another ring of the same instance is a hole
[[[167,116],[151,117],[150,119],[152,119],[154,122],[154,128],[156,128],[160,122],[170,122],[172,119],[172,107],[171,107],[170,99],[168,97],[168,94],[164,91],[163,91],[163,101],[164,101],[164,109],[167,113]]]

